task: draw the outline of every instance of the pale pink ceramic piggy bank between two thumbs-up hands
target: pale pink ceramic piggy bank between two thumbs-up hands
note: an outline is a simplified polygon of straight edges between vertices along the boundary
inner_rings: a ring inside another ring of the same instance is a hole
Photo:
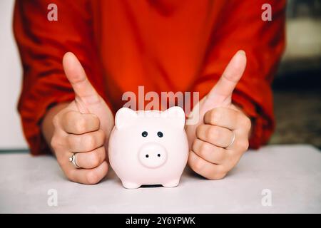
[[[123,187],[175,187],[188,160],[185,113],[180,107],[163,112],[121,108],[116,113],[108,156]]]

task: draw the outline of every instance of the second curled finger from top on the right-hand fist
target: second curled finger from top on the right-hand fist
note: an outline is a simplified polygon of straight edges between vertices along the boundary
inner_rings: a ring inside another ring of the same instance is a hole
[[[196,128],[196,137],[218,147],[227,147],[233,140],[233,132],[228,128],[201,124]]]

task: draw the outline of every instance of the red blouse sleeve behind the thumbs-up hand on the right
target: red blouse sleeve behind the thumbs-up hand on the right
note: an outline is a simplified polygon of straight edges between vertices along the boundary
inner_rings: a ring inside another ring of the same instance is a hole
[[[208,58],[195,84],[203,97],[236,51],[245,51],[247,67],[233,93],[233,103],[253,119],[252,148],[265,144],[275,127],[271,83],[285,46],[285,1],[269,1],[272,21],[261,19],[265,2],[228,1],[220,24],[213,26]]]

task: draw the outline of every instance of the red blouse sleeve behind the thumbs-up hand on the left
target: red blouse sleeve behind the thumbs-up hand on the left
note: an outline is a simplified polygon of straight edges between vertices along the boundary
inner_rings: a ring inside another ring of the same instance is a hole
[[[49,21],[49,4],[58,6],[58,21]],[[98,90],[100,72],[95,64],[90,7],[86,1],[16,1],[14,36],[18,43],[24,79],[18,110],[34,155],[49,152],[40,123],[46,110],[74,98],[63,73],[62,57],[72,51],[79,58],[89,80]]]

